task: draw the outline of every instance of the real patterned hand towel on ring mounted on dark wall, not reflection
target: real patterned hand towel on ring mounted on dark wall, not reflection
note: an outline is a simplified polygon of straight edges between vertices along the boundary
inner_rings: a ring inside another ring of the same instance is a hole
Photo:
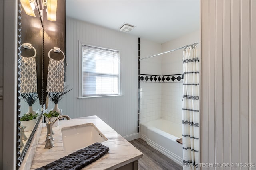
[[[63,92],[64,90],[64,62],[50,58],[47,74],[46,92]]]

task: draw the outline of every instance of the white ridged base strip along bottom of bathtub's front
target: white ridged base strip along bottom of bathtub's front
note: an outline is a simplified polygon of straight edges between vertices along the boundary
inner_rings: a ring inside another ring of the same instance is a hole
[[[158,150],[162,154],[166,155],[168,158],[172,159],[174,162],[179,164],[180,166],[183,166],[183,160],[180,158],[180,156],[177,156],[176,154],[170,152],[169,150],[165,149],[164,147],[158,145],[154,141],[151,141],[150,139],[147,140],[148,145],[153,147],[154,149]]]

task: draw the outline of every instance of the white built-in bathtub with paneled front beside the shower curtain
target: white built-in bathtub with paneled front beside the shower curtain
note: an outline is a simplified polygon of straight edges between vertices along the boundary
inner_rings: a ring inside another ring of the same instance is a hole
[[[163,119],[140,123],[140,138],[182,166],[182,144],[176,141],[181,137],[181,124]]]

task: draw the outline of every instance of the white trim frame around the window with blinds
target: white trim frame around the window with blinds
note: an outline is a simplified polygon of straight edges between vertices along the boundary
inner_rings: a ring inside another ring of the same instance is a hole
[[[118,94],[116,95],[102,95],[102,96],[83,96],[83,90],[82,90],[82,75],[83,75],[83,63],[82,63],[82,45],[88,45],[88,46],[92,46],[92,47],[98,47],[98,48],[102,48],[102,49],[110,49],[110,50],[115,50],[115,51],[119,51],[119,55],[121,57],[121,51],[118,50],[118,49],[115,49],[115,48],[112,48],[112,47],[104,47],[104,46],[98,46],[98,45],[95,45],[95,44],[91,44],[91,43],[88,43],[88,42],[82,42],[82,41],[79,41],[78,40],[78,99],[82,99],[82,98],[94,98],[94,97],[109,97],[109,96],[123,96],[121,94],[121,68],[120,68],[120,63],[119,63],[119,83],[118,83]],[[121,60],[121,58],[120,58]]]

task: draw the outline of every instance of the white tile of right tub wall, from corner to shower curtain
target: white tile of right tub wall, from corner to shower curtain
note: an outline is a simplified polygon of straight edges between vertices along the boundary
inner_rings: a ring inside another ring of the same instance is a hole
[[[195,31],[162,44],[162,52],[199,42],[200,32]],[[183,73],[183,49],[162,56],[162,75]],[[162,118],[182,124],[182,83],[161,83]]]

